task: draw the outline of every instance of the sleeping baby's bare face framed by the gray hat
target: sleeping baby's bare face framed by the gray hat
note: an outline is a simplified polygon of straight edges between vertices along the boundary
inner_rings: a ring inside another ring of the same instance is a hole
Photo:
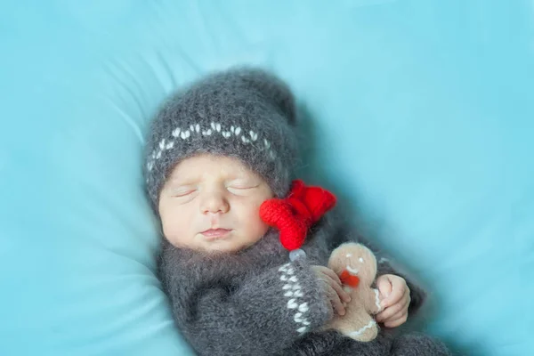
[[[260,219],[271,188],[236,158],[201,155],[183,160],[159,197],[163,233],[175,247],[239,251],[262,239]]]

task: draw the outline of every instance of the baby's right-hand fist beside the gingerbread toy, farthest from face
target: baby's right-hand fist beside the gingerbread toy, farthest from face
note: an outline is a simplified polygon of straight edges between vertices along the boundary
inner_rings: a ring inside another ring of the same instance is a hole
[[[376,279],[376,287],[385,298],[380,302],[383,311],[376,315],[376,321],[386,328],[396,328],[408,320],[410,302],[406,280],[394,274],[384,274]]]

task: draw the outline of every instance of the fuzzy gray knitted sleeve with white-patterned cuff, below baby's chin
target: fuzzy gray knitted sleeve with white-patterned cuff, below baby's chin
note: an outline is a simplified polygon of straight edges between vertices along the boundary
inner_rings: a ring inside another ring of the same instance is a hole
[[[174,318],[200,355],[273,354],[330,318],[328,299],[305,261],[248,273],[237,286],[163,263]]]

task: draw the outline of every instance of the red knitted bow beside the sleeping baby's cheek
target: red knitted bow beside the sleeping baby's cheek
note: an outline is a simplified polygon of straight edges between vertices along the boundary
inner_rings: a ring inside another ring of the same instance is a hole
[[[336,205],[328,190],[306,187],[301,180],[292,184],[287,198],[272,198],[260,206],[263,222],[280,231],[280,242],[288,250],[301,247],[312,224]]]

